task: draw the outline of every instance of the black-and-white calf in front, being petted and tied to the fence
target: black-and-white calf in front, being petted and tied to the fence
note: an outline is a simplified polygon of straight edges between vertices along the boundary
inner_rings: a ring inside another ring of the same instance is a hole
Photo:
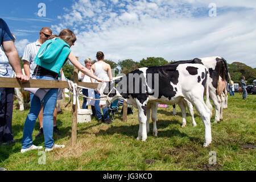
[[[111,82],[99,84],[101,107],[106,107],[114,100],[124,99],[138,107],[138,138],[147,139],[147,105],[162,103],[174,105],[183,98],[196,107],[205,126],[204,146],[212,142],[210,129],[208,69],[203,64],[165,65],[162,67],[139,68]],[[115,86],[117,84],[117,86]],[[206,88],[207,103],[204,103]],[[157,106],[155,112],[157,111]]]

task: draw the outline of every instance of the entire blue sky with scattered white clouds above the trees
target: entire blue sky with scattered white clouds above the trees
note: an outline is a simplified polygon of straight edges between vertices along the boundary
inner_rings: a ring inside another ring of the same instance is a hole
[[[46,16],[38,16],[45,3]],[[212,6],[216,6],[216,16]],[[154,56],[170,60],[222,56],[256,67],[256,1],[254,0],[24,0],[2,1],[0,17],[16,36],[23,55],[42,27],[54,34],[70,28],[77,36],[72,51],[80,61],[139,61]]]

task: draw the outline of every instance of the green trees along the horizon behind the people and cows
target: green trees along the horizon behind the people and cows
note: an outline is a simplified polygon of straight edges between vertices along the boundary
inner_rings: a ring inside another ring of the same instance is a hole
[[[20,57],[20,64],[22,64],[23,68],[23,61]],[[106,63],[110,65],[112,69],[115,70],[115,75],[119,73],[127,74],[134,69],[143,68],[143,67],[154,67],[154,66],[162,66],[173,63],[175,61],[167,61],[163,57],[147,57],[147,59],[142,59],[140,61],[134,61],[133,59],[125,59],[119,60],[118,63],[115,63],[112,60],[104,60]],[[93,60],[95,63],[96,60]],[[233,62],[232,64],[228,64],[228,69],[232,80],[235,83],[241,85],[241,78],[245,76],[247,85],[253,85],[253,80],[256,79],[256,68],[251,68],[244,63],[240,62]],[[67,62],[63,66],[63,72],[66,78],[69,80],[73,80],[73,65]]]

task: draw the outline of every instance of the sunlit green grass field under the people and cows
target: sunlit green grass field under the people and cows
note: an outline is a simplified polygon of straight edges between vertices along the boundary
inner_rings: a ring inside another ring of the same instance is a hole
[[[16,101],[15,101],[16,104]],[[14,109],[13,134],[19,142],[0,146],[0,167],[7,170],[255,170],[256,95],[242,100],[242,95],[229,96],[224,120],[212,122],[212,143],[203,148],[204,125],[195,111],[197,127],[192,127],[187,114],[187,127],[181,129],[181,113],[172,115],[172,107],[158,110],[158,138],[150,134],[146,142],[138,141],[137,113],[128,115],[127,123],[115,117],[112,125],[79,123],[77,144],[71,147],[71,105],[57,115],[57,125],[63,135],[53,135],[56,144],[65,148],[46,153],[46,164],[39,151],[20,153],[24,121],[28,111]],[[213,111],[214,114],[214,111]],[[39,123],[33,133],[34,144],[44,146],[43,137],[36,138]],[[217,154],[217,165],[209,165],[209,152]]]

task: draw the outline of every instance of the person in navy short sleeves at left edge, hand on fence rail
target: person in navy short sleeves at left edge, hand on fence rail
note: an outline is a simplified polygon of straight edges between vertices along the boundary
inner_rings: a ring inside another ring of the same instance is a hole
[[[15,38],[11,35],[9,27],[5,21],[0,18],[0,46],[3,48],[3,51],[0,52],[0,77],[9,75],[11,71],[9,67],[10,63],[16,73],[16,78],[19,78],[20,82],[28,81],[29,77],[22,75],[19,54],[14,46],[14,40]],[[13,139],[11,129],[13,93],[14,88],[0,88],[0,143],[3,144],[16,142],[16,140]]]

